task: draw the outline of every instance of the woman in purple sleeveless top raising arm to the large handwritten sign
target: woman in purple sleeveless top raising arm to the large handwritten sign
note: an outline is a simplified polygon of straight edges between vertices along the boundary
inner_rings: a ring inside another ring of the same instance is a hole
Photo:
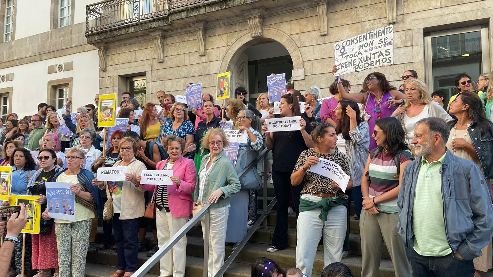
[[[337,69],[334,66],[332,73],[336,72]],[[368,122],[370,134],[373,134],[377,120],[391,116],[396,109],[396,104],[405,103],[400,101],[400,99],[405,99],[405,95],[391,86],[385,75],[380,72],[372,72],[366,76],[363,81],[363,91],[366,91],[366,93],[347,93],[342,82],[338,82],[337,88],[342,99],[349,99],[363,104],[364,120]],[[392,98],[389,99],[389,97]],[[373,137],[370,137],[369,149],[375,148],[377,148],[377,143],[375,143]]]

